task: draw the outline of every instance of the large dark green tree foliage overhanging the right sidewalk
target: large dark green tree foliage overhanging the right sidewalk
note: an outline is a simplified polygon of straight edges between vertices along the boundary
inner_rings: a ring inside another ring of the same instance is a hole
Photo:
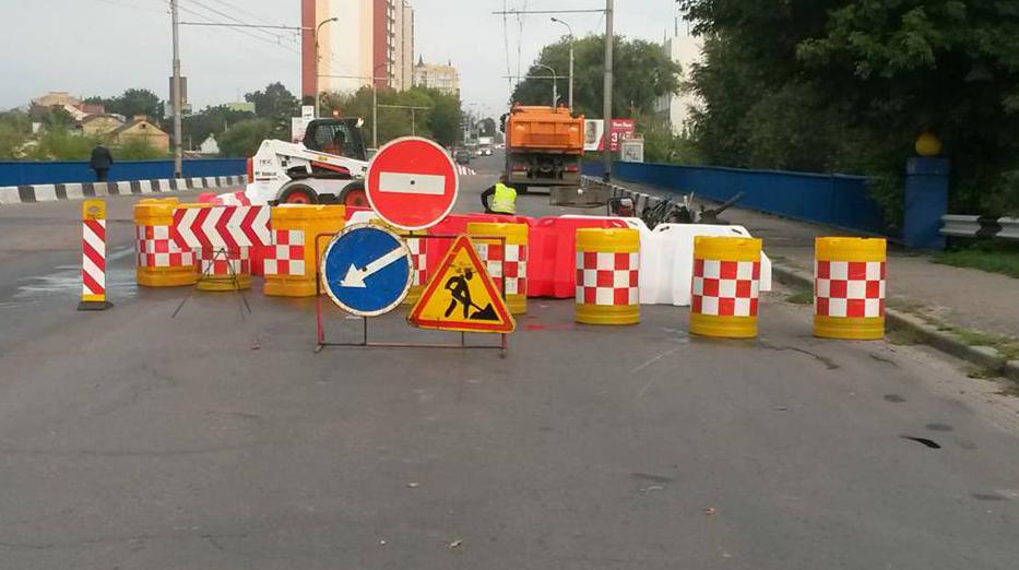
[[[1019,170],[1015,2],[680,5],[708,38],[692,84],[704,100],[695,134],[709,161],[854,168],[878,179],[878,199],[894,214],[903,162],[929,129],[952,161],[956,209],[1011,203],[1010,173]]]

